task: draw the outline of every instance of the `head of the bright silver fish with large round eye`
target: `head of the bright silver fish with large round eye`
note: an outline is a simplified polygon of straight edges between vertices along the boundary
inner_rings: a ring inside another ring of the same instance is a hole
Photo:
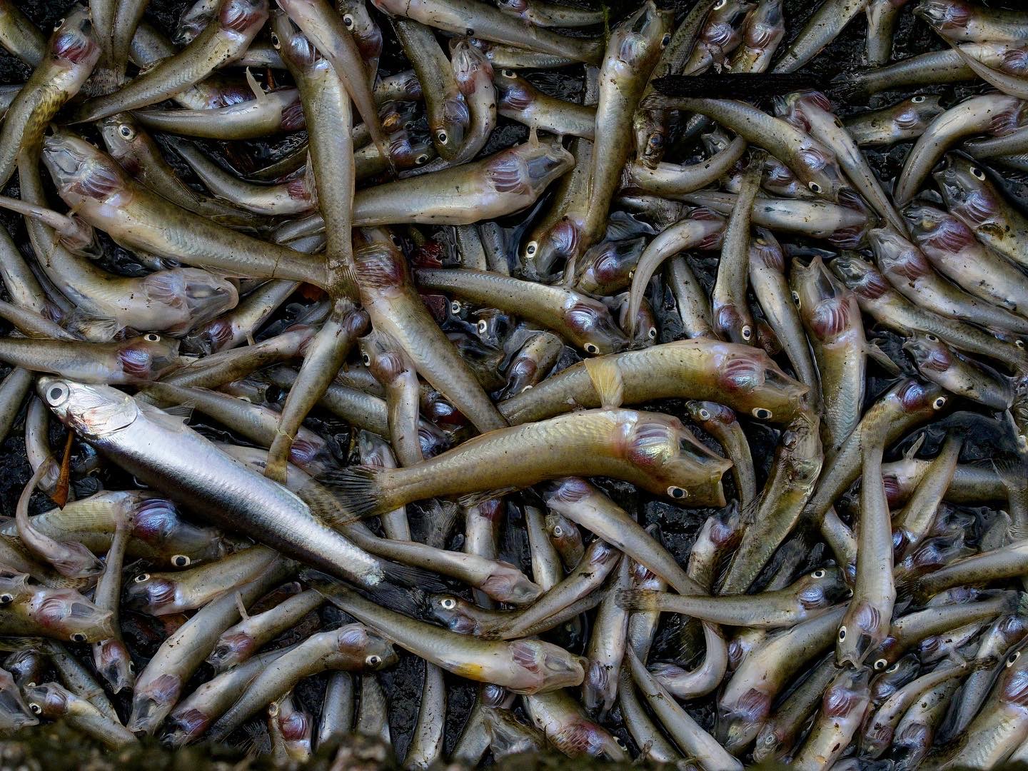
[[[109,386],[44,376],[36,381],[36,391],[58,419],[86,441],[120,431],[139,415],[136,401]]]

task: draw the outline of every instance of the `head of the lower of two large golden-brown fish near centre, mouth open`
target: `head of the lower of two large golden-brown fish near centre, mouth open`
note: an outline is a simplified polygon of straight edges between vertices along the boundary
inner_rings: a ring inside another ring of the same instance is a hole
[[[721,478],[732,462],[700,444],[676,417],[636,414],[625,456],[645,475],[648,486],[690,506],[724,506]]]

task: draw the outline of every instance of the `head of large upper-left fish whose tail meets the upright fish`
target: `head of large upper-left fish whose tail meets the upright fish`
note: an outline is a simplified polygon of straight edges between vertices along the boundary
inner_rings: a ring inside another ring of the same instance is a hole
[[[71,206],[89,198],[106,201],[124,191],[126,180],[114,159],[69,132],[45,137],[42,158],[58,192]]]

